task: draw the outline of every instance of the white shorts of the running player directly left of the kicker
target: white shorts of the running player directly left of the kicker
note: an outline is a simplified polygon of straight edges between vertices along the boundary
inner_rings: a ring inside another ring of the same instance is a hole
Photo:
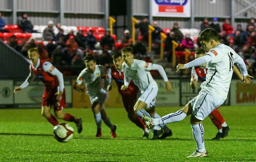
[[[145,102],[147,106],[146,109],[155,106],[155,97],[157,96],[158,87],[147,88],[139,97],[138,100]]]

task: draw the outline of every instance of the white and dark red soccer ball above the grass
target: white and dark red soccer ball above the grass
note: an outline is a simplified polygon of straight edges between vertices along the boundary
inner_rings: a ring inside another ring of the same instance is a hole
[[[59,123],[53,128],[53,137],[61,143],[70,141],[73,138],[74,129],[68,123]]]

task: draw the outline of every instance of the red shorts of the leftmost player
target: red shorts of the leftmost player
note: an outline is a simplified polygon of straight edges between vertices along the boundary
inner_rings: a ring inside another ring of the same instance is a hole
[[[63,95],[60,100],[57,100],[57,96],[55,95],[57,92],[57,88],[45,88],[43,94],[43,102],[42,106],[53,106],[54,111],[60,111],[64,107],[66,107],[66,93],[65,89],[63,90]]]

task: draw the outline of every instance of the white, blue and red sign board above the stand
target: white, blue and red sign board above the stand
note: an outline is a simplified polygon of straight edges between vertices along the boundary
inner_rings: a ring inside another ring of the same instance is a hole
[[[191,17],[191,0],[151,0],[152,16]]]

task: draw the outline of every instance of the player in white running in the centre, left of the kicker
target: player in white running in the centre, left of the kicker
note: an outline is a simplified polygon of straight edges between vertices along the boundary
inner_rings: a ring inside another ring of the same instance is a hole
[[[139,116],[146,114],[149,117],[161,118],[155,112],[155,97],[157,96],[158,86],[155,80],[150,74],[150,70],[158,70],[163,79],[165,80],[166,91],[169,92],[172,89],[165,70],[161,65],[148,63],[143,60],[133,59],[132,48],[125,47],[122,49],[122,56],[125,60],[123,63],[124,71],[124,85],[121,90],[126,90],[130,81],[132,80],[136,86],[139,87],[141,96],[135,103],[133,110]],[[143,110],[146,108],[146,111]],[[162,129],[161,129],[162,128]],[[163,132],[164,131],[164,132]],[[151,139],[164,139],[172,135],[172,131],[166,125],[160,125],[154,129],[154,135]],[[159,137],[159,135],[161,135]]]

